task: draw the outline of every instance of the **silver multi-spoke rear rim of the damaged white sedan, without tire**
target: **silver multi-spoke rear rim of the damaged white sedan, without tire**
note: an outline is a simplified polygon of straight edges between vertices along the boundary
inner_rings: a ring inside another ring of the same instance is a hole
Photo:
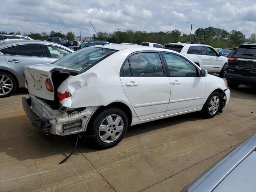
[[[99,137],[105,143],[114,142],[122,134],[124,121],[118,115],[107,116],[100,124]]]

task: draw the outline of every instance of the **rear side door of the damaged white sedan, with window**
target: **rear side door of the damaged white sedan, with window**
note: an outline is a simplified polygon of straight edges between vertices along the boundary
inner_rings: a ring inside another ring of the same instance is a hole
[[[164,116],[170,99],[170,80],[160,52],[136,52],[129,56],[120,79],[140,120]]]

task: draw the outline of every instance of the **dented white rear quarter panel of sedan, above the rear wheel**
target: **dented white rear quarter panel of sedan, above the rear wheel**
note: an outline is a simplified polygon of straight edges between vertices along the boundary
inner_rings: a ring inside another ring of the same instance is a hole
[[[70,76],[58,87],[58,92],[71,93],[70,108],[107,106],[113,102],[126,104],[135,112],[128,101],[120,80],[120,68],[129,54],[134,52],[124,49],[108,56],[86,72]],[[136,115],[135,115],[136,116]]]

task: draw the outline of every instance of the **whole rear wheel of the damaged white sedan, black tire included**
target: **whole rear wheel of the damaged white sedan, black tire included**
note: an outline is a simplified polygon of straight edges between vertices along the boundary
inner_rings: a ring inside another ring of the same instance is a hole
[[[107,108],[92,119],[88,134],[92,135],[91,142],[97,148],[116,146],[126,134],[128,118],[119,108]]]

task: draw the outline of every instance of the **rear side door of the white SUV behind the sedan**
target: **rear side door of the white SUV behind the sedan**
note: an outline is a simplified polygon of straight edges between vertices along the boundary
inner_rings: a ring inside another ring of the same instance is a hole
[[[205,46],[197,46],[197,61],[202,69],[211,71],[212,68],[210,64],[210,56],[207,55]]]

